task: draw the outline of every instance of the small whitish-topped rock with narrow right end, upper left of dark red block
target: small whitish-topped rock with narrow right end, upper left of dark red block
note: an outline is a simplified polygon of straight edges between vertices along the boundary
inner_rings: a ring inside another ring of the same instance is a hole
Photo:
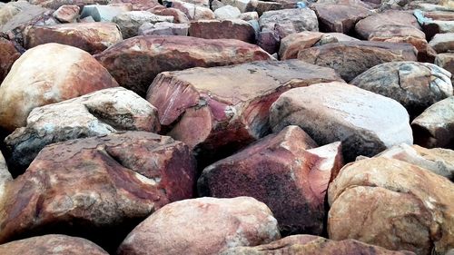
[[[153,15],[147,11],[132,11],[114,16],[112,22],[120,27],[123,38],[126,39],[136,36],[139,27],[144,23],[173,22],[173,16]]]

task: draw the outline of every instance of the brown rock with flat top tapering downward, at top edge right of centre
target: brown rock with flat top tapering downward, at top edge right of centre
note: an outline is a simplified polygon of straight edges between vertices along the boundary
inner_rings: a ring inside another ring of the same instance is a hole
[[[372,15],[372,12],[359,5],[311,5],[319,18],[320,30],[323,32],[350,33],[361,19]]]

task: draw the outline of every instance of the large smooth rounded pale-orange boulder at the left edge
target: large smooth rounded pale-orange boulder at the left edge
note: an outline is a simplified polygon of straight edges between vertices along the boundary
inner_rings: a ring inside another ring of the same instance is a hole
[[[39,61],[36,61],[39,60]],[[43,44],[25,52],[0,86],[0,126],[25,126],[35,107],[118,86],[94,57],[63,44]]]

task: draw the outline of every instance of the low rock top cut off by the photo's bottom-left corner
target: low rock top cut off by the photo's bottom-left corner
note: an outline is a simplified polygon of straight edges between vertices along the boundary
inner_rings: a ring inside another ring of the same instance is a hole
[[[2,244],[0,245],[0,253],[3,255],[109,254],[89,240],[55,234],[33,237],[25,240],[15,240]]]

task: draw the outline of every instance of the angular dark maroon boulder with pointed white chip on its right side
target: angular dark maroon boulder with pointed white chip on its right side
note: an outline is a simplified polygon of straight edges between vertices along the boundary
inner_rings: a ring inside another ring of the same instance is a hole
[[[315,147],[301,128],[289,126],[206,167],[199,195],[251,196],[270,207],[282,234],[321,234],[325,192],[342,166],[341,142]]]

